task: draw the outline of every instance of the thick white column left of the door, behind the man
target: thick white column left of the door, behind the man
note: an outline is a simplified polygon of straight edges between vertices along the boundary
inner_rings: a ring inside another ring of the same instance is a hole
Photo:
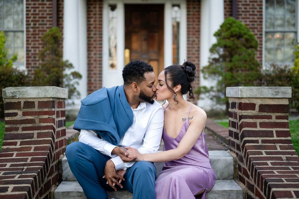
[[[82,75],[78,99],[67,100],[68,109],[79,109],[80,99],[87,96],[87,11],[86,0],[64,0],[63,59]],[[70,71],[67,71],[68,73]],[[74,105],[71,103],[74,102]]]

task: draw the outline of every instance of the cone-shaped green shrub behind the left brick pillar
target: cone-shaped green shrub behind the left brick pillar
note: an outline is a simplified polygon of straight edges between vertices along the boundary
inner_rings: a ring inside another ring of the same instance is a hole
[[[34,86],[58,86],[69,90],[69,99],[79,96],[80,93],[76,89],[78,79],[82,76],[76,71],[68,73],[73,69],[73,65],[69,61],[64,61],[60,44],[62,43],[62,35],[58,27],[50,28],[41,38],[44,49],[39,53],[41,61],[40,68],[36,69],[32,81]]]

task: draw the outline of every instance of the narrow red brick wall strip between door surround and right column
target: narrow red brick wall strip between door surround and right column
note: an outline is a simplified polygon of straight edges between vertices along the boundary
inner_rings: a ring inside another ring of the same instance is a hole
[[[196,65],[193,88],[199,86],[200,74],[200,4],[198,0],[187,0],[187,60]]]

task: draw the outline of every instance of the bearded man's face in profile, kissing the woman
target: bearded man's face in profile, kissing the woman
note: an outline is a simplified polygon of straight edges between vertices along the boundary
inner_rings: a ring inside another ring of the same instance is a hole
[[[140,83],[140,93],[139,98],[142,101],[154,104],[154,97],[156,96],[155,74],[154,72],[147,72],[144,74],[145,81]]]

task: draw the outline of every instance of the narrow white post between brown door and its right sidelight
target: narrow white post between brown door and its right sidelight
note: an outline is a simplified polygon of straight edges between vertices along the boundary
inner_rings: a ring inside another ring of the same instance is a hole
[[[164,4],[164,68],[172,65],[172,4]]]

